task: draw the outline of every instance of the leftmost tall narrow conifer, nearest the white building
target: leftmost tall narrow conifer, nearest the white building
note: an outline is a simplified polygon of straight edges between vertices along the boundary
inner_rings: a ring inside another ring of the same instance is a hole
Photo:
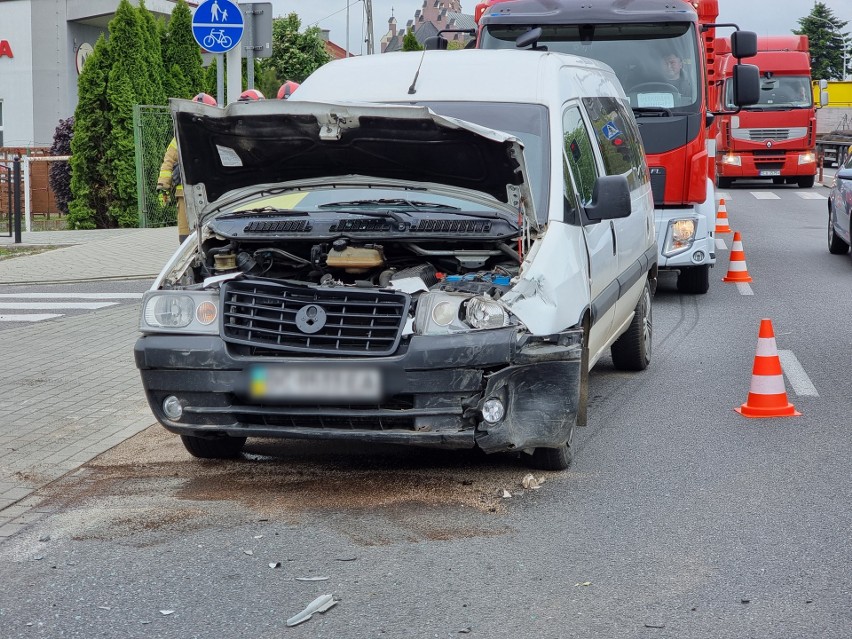
[[[106,85],[111,66],[110,45],[101,35],[77,81],[79,99],[71,140],[70,229],[109,227],[110,183],[103,177],[101,160],[109,137],[110,123],[104,114],[108,108]]]

